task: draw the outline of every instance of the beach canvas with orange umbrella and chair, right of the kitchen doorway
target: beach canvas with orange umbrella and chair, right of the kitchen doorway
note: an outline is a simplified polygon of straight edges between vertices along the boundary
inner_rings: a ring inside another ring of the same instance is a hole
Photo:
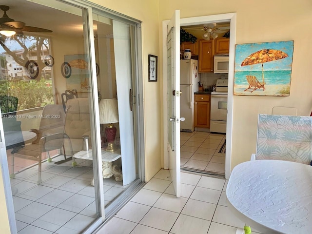
[[[289,96],[293,40],[237,44],[234,95]]]

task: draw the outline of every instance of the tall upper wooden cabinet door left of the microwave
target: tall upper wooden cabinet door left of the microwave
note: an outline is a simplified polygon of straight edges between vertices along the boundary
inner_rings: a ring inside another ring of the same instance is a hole
[[[198,72],[214,71],[214,40],[199,40]]]

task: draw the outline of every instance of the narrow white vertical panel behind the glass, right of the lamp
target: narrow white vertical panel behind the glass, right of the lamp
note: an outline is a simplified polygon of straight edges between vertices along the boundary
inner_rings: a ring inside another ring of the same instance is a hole
[[[131,26],[113,20],[116,84],[123,185],[136,177],[132,98]]]

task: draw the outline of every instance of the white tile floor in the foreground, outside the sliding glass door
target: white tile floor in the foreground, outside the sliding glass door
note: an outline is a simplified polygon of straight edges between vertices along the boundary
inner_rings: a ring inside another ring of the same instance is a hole
[[[226,186],[225,179],[182,172],[176,198],[169,171],[160,170],[98,234],[235,234],[245,223],[228,209]]]

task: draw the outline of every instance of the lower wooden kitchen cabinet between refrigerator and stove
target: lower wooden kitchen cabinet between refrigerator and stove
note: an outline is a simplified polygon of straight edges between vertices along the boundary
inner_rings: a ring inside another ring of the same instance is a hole
[[[210,128],[210,95],[195,94],[194,125],[197,128]]]

